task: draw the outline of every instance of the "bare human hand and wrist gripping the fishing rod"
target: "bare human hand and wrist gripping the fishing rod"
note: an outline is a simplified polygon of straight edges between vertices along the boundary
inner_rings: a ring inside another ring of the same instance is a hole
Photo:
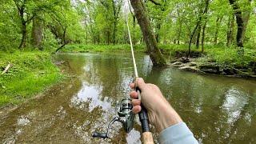
[[[138,99],[138,93],[135,90],[130,92],[130,97],[134,98],[131,102],[134,114],[138,114],[142,110],[140,106],[142,102],[148,112],[150,123],[156,126],[158,132],[178,122],[182,122],[182,118],[166,101],[158,86],[145,83],[142,78],[136,78],[136,82],[131,83],[130,87],[132,89],[138,87],[141,90],[141,100]]]

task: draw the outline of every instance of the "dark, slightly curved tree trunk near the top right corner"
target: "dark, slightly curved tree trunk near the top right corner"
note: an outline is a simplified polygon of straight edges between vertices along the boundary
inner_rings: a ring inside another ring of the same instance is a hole
[[[233,7],[234,10],[234,15],[236,17],[236,22],[238,25],[238,31],[237,31],[237,46],[238,47],[243,47],[243,42],[242,42],[242,31],[244,31],[243,27],[243,20],[242,20],[242,11],[240,10],[240,7],[238,4],[235,2],[235,0],[229,0],[230,5]]]

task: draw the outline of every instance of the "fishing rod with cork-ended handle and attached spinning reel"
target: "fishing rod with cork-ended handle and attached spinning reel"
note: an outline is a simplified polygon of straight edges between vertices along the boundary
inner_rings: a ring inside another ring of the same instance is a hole
[[[128,1],[128,0],[127,0]],[[129,6],[129,2],[128,2]],[[130,27],[128,24],[128,18],[127,14],[126,16],[126,26],[128,30],[128,35],[130,39],[130,50],[131,50],[131,55],[132,55],[132,60],[133,60],[133,65],[134,65],[134,81],[135,81],[135,90],[138,93],[138,99],[141,99],[141,90],[139,90],[138,86],[136,86],[136,79],[138,78],[138,70],[137,70],[137,65],[135,61],[135,56],[134,56],[134,47],[133,43],[131,41],[130,37]],[[145,144],[152,144],[154,143],[153,136],[150,132],[150,124],[149,124],[149,118],[147,115],[147,110],[146,108],[141,104],[142,110],[138,113],[139,120],[142,124],[142,142]],[[134,126],[134,114],[132,112],[132,104],[131,104],[131,99],[130,98],[124,98],[121,100],[121,102],[118,104],[118,116],[114,117],[109,125],[107,126],[106,133],[98,133],[94,132],[93,137],[96,138],[109,138],[109,130],[110,126],[114,122],[121,122],[124,130],[126,133],[129,133],[130,130],[133,129]]]

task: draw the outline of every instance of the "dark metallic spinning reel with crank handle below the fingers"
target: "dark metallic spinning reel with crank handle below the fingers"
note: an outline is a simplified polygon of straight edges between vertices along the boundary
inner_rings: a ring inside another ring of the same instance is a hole
[[[130,98],[122,99],[122,101],[118,104],[118,116],[114,117],[110,121],[109,125],[107,126],[106,133],[98,133],[95,131],[92,136],[94,138],[109,138],[110,126],[114,122],[121,122],[126,133],[129,133],[134,127],[134,114],[132,112],[132,108],[133,106]]]

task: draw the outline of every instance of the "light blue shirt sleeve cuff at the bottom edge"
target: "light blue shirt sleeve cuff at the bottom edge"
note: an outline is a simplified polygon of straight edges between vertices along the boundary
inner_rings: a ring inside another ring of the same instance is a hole
[[[184,122],[162,130],[159,135],[159,142],[161,144],[198,144],[198,141]]]

